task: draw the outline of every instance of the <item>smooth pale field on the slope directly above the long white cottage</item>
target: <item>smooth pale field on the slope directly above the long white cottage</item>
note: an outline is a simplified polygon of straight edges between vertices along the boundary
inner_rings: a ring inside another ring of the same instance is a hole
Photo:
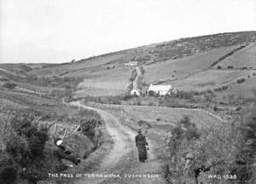
[[[212,49],[203,53],[183,57],[176,60],[166,60],[145,66],[146,83],[165,82],[188,78],[195,72],[207,70],[215,60],[235,49],[237,46]]]

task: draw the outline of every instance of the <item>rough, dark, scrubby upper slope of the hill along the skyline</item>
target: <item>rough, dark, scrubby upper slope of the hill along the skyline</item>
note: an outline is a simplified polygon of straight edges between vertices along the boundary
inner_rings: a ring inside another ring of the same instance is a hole
[[[252,43],[256,40],[256,32],[230,32],[188,37],[164,43],[154,43],[135,49],[121,50],[105,55],[93,56],[73,63],[64,63],[43,69],[38,69],[38,75],[68,75],[69,72],[83,75],[81,72],[96,72],[114,67],[122,67],[130,60],[140,65],[150,65],[155,62],[182,58],[184,56],[202,53],[212,49]],[[100,67],[99,67],[100,66]],[[70,73],[69,73],[70,74]]]

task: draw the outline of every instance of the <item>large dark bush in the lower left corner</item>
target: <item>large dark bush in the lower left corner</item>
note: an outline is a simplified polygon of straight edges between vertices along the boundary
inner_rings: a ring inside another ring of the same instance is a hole
[[[39,126],[35,122],[33,110],[15,112],[9,119],[9,127],[12,131],[8,130],[9,134],[3,134],[5,149],[0,152],[0,157],[5,155],[9,161],[0,164],[0,181],[8,183],[9,180],[22,178],[36,183],[47,174],[41,163],[46,162],[44,147],[48,141],[49,127]],[[26,172],[16,172],[22,168],[26,168]],[[3,175],[9,175],[9,180]]]

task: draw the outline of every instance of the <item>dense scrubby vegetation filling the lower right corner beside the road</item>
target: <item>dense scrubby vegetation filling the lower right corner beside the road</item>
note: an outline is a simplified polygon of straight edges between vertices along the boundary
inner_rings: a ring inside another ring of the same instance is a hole
[[[255,129],[254,115],[255,110],[245,122],[240,118],[212,124],[210,129],[197,129],[189,118],[181,119],[172,134],[166,137],[167,180],[170,183],[218,183],[218,179],[209,179],[208,175],[228,174],[236,175],[238,183],[253,183],[256,139],[251,133]],[[225,183],[233,183],[233,180]]]

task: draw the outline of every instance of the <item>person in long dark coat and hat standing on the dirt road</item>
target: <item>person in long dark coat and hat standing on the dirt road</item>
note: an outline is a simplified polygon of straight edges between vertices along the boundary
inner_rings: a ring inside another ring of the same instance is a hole
[[[148,142],[146,140],[145,135],[143,135],[143,130],[137,130],[138,135],[135,137],[136,147],[138,151],[138,158],[140,162],[145,162],[147,159],[147,149],[146,145],[148,146]]]

